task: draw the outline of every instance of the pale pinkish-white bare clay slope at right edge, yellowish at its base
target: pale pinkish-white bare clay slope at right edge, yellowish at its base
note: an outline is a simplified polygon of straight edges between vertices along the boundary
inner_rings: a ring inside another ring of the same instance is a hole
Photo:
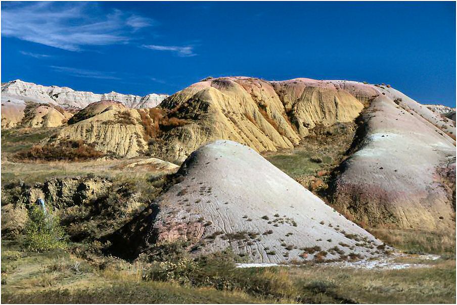
[[[455,125],[401,92],[376,87],[334,204],[370,225],[455,226]]]

